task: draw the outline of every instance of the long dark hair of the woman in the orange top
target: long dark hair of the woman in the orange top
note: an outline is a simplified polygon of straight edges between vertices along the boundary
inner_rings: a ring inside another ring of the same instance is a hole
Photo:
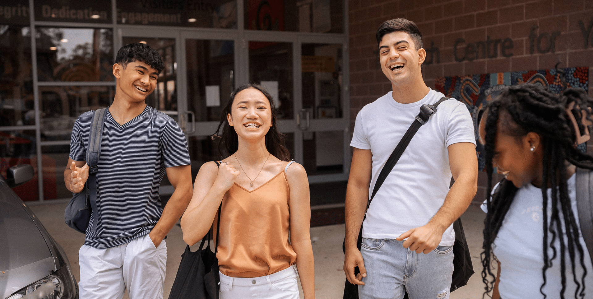
[[[230,156],[237,152],[237,149],[239,148],[237,132],[235,132],[234,127],[228,124],[227,115],[231,114],[232,102],[234,101],[235,97],[237,97],[237,94],[247,88],[254,88],[262,92],[262,94],[267,98],[267,101],[270,102],[270,110],[272,111],[272,127],[270,127],[270,130],[267,131],[266,134],[267,151],[282,161],[289,161],[291,159],[291,155],[284,145],[286,134],[280,133],[280,131],[278,131],[278,127],[276,126],[276,107],[274,105],[272,95],[270,95],[270,93],[259,84],[245,84],[239,86],[231,93],[231,97],[229,98],[227,105],[222,109],[221,122],[218,124],[218,128],[216,128],[216,132],[212,134],[212,140],[214,140],[216,137],[221,138],[220,142],[218,143],[219,158],[222,159],[223,157]],[[219,135],[221,127],[222,136]],[[224,146],[226,155],[223,153],[222,146]]]

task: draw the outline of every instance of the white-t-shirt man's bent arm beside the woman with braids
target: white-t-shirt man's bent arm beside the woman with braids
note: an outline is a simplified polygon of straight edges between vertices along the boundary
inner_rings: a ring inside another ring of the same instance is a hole
[[[439,245],[442,235],[451,224],[466,211],[477,191],[478,163],[473,143],[460,142],[451,144],[449,166],[455,183],[452,185],[445,202],[435,216],[425,226],[411,229],[396,240],[407,240],[404,247],[416,253],[429,253]]]

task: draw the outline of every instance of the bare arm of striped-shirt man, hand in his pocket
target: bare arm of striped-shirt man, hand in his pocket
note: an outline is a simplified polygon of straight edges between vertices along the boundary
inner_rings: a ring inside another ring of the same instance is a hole
[[[181,165],[165,168],[167,178],[175,189],[169,201],[162,210],[161,218],[148,234],[155,247],[161,244],[162,239],[173,228],[187,204],[192,199],[192,166]]]

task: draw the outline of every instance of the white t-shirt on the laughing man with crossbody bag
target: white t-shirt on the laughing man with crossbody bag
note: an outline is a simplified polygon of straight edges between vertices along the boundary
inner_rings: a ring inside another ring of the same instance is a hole
[[[350,146],[371,150],[372,177],[369,198],[383,165],[415,120],[422,104],[434,104],[444,97],[431,89],[420,101],[401,104],[388,92],[356,115]],[[466,105],[444,101],[429,121],[419,128],[385,182],[373,198],[362,236],[396,239],[400,234],[428,223],[441,208],[451,181],[447,147],[453,143],[474,145],[474,127]],[[440,246],[455,242],[452,225]]]

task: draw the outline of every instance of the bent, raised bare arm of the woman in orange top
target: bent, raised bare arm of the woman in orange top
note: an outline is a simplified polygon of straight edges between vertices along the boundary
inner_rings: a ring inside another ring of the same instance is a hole
[[[214,216],[222,202],[224,194],[234,184],[239,171],[233,165],[207,162],[196,175],[192,200],[181,217],[183,240],[194,245],[202,240],[214,221]]]

